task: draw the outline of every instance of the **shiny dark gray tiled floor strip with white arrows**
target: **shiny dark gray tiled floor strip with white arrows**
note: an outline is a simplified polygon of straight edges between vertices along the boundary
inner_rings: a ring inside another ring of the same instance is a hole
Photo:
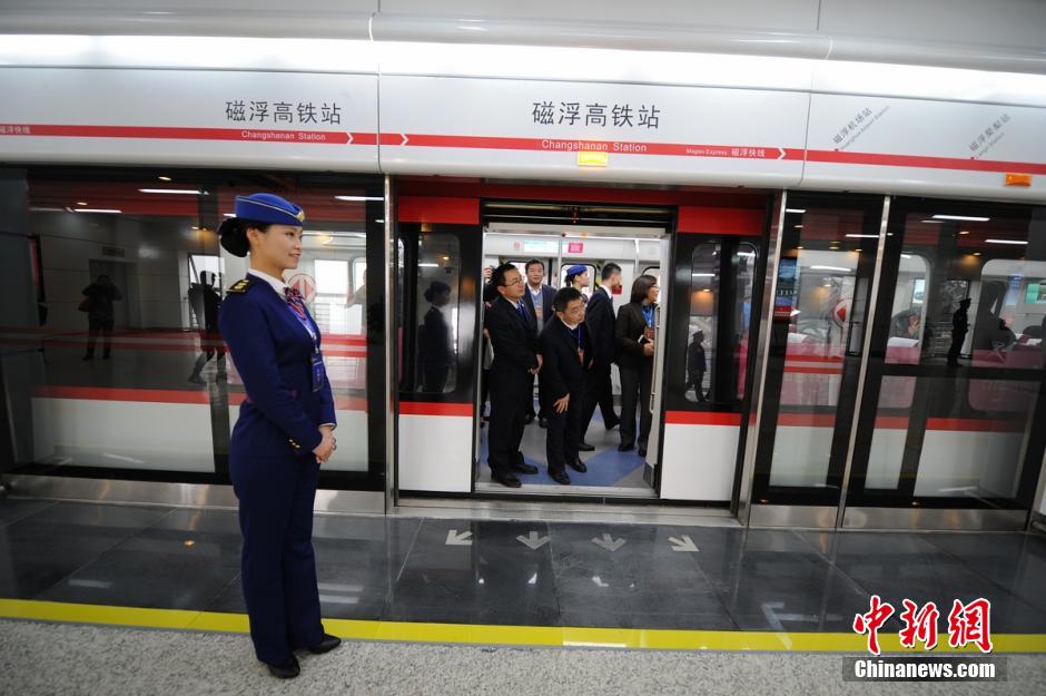
[[[317,516],[314,542],[328,617],[848,631],[878,594],[1046,633],[1046,541],[1022,533]],[[239,549],[235,511],[0,501],[3,597],[241,612]]]

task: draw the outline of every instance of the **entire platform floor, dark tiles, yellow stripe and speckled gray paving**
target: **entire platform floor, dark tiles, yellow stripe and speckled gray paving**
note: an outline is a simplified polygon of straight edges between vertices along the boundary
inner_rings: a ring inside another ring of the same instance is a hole
[[[288,693],[866,693],[839,654],[867,655],[872,595],[897,607],[885,653],[906,650],[906,598],[940,608],[938,651],[955,599],[990,601],[1007,679],[948,693],[1046,683],[1035,535],[317,514],[314,541],[325,627],[348,640]],[[0,500],[0,692],[272,690],[239,548],[231,510]]]

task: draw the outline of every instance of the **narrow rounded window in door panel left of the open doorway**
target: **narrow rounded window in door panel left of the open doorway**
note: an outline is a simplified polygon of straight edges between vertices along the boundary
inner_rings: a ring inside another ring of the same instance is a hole
[[[418,236],[417,247],[416,391],[452,392],[457,366],[461,244],[455,235],[427,233]]]

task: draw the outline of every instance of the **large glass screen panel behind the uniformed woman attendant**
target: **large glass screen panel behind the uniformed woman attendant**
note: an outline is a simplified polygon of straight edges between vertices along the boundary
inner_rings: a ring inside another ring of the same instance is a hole
[[[368,471],[367,327],[362,308],[354,316],[345,304],[349,264],[366,251],[364,202],[373,198],[364,189],[373,196],[379,179],[162,174],[159,180],[144,169],[27,174],[26,232],[40,239],[40,312],[26,335],[40,362],[17,398],[33,416],[27,428],[34,465],[226,480],[228,433],[245,388],[217,317],[225,290],[244,277],[249,259],[226,253],[216,229],[236,195],[264,190],[307,216],[300,263],[285,280],[305,295],[324,334],[343,443],[325,472]]]

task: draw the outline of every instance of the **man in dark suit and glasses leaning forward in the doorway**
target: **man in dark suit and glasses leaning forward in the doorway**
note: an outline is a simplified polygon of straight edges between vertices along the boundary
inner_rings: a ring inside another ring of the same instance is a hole
[[[581,418],[584,412],[585,378],[592,366],[592,350],[585,329],[585,306],[581,292],[564,287],[555,294],[555,317],[541,332],[541,406],[549,419],[545,452],[549,476],[566,486],[566,467],[584,473],[578,457]]]

